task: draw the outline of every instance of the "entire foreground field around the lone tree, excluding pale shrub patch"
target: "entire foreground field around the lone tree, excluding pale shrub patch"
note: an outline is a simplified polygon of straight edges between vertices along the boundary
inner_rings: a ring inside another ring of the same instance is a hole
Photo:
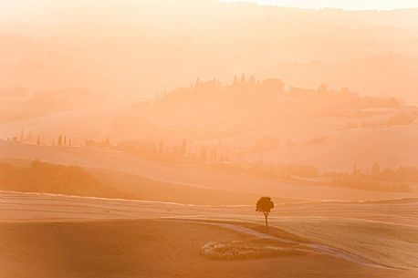
[[[417,200],[277,205],[266,231],[251,206],[3,191],[0,276],[412,278],[417,207]],[[254,241],[266,232],[307,241],[312,252],[244,261],[201,255],[208,242]]]

